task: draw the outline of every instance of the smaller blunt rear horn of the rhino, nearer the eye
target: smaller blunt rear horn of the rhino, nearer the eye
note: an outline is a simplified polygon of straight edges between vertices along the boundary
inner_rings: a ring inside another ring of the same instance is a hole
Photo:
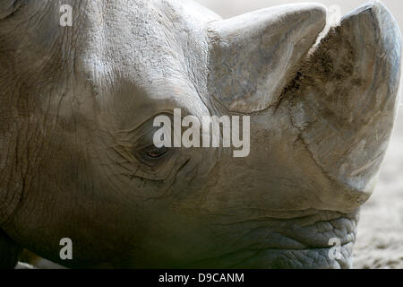
[[[275,104],[325,23],[321,4],[282,5],[210,23],[211,96],[233,112]]]

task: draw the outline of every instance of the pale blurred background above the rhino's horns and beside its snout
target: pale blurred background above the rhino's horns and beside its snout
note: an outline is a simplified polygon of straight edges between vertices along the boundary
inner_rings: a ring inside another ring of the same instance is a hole
[[[329,22],[368,1],[360,0],[196,0],[223,18],[279,4],[320,2]],[[383,0],[403,29],[403,1]],[[401,89],[400,89],[401,90]],[[401,107],[403,108],[403,107]],[[363,206],[355,248],[355,268],[403,268],[403,109],[400,110],[379,185]]]

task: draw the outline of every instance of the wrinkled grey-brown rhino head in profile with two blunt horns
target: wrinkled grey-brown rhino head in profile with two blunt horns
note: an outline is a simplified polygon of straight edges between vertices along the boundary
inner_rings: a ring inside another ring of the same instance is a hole
[[[0,265],[26,248],[69,268],[352,267],[401,36],[381,2],[328,31],[326,14],[1,0]],[[248,156],[157,148],[153,119],[174,109],[249,117]]]

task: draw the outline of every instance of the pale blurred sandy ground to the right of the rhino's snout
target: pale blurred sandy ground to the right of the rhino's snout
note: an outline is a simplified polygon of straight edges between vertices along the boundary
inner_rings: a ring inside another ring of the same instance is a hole
[[[355,268],[403,268],[403,112],[382,166],[378,187],[364,204]]]

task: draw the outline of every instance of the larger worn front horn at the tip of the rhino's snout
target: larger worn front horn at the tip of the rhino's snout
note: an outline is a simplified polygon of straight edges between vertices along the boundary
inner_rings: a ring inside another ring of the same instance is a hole
[[[304,146],[352,195],[373,190],[399,109],[400,65],[399,26],[373,2],[331,29],[289,85]]]

